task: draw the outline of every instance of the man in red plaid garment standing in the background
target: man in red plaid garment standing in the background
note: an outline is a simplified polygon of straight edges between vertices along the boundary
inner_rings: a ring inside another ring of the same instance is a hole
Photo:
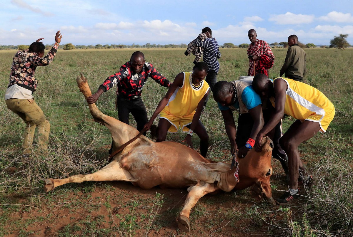
[[[273,55],[270,46],[266,41],[257,39],[257,34],[254,29],[247,32],[251,44],[247,49],[249,57],[248,76],[255,76],[262,73],[268,76],[268,69],[273,66],[275,56]]]

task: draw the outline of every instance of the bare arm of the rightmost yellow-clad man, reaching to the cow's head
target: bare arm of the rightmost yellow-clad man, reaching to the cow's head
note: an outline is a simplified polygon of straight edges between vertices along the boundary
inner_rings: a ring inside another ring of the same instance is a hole
[[[261,140],[264,135],[269,133],[274,127],[276,127],[277,123],[279,123],[284,115],[285,104],[286,104],[286,90],[287,83],[285,80],[279,78],[274,81],[274,89],[275,89],[275,112],[270,117],[269,122],[261,129],[261,131],[257,134],[255,140],[255,150],[261,151]]]

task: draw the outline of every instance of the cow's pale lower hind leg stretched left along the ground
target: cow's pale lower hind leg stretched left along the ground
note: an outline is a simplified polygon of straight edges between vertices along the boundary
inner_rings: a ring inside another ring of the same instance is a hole
[[[55,187],[66,183],[82,183],[83,181],[130,181],[136,182],[137,180],[132,175],[122,169],[118,162],[113,161],[104,166],[101,170],[88,175],[73,175],[62,180],[59,179],[46,179],[44,180],[44,191],[49,192]]]

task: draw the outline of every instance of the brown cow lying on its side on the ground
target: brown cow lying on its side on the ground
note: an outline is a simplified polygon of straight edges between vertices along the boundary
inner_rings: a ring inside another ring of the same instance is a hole
[[[85,98],[91,96],[87,80],[81,74],[77,84]],[[113,153],[122,144],[134,138],[139,132],[113,117],[103,114],[95,104],[89,104],[94,120],[106,126],[113,138]],[[230,170],[224,162],[215,163],[203,158],[195,150],[177,142],[153,142],[141,135],[113,157],[112,162],[101,170],[88,175],[74,175],[62,180],[45,180],[44,190],[49,192],[66,183],[83,181],[129,181],[143,189],[154,186],[184,188],[189,192],[182,211],[178,217],[178,226],[183,231],[190,230],[190,210],[205,194],[232,189],[240,190],[252,185],[252,195],[261,200],[262,197],[275,205],[270,188],[272,175],[271,151],[273,142],[267,136],[262,139],[262,152],[248,152]]]

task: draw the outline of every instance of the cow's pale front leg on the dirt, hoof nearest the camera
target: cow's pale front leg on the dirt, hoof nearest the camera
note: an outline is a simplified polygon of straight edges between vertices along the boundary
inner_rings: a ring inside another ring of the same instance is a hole
[[[190,210],[196,205],[196,202],[208,193],[215,192],[219,190],[219,188],[210,183],[202,182],[198,183],[195,186],[188,188],[189,194],[186,196],[186,200],[184,203],[183,210],[181,210],[178,221],[178,227],[180,230],[185,232],[190,231]]]

